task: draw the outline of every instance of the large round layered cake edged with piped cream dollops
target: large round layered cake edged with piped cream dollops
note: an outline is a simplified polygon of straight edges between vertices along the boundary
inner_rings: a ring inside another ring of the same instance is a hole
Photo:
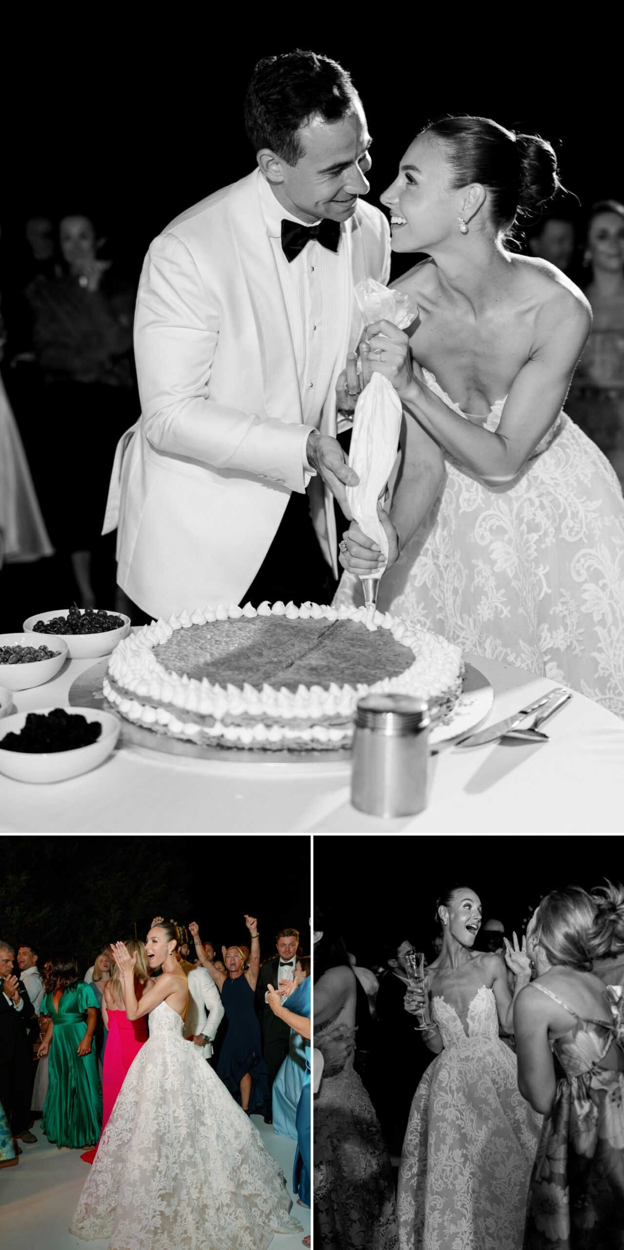
[[[447,715],[462,652],[437,634],[364,608],[306,602],[205,608],[152,621],[117,645],[104,692],[127,720],[198,745],[336,750],[357,700],[427,699]]]

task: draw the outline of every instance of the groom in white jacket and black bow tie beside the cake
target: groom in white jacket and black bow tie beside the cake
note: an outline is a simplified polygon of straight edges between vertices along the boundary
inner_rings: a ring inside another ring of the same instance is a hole
[[[387,282],[391,255],[359,200],[362,104],[334,61],[290,52],[256,66],[246,126],[258,168],[154,240],[139,289],[142,415],[104,531],[119,519],[119,584],[154,616],[326,596],[333,496],[346,510],[357,481],[336,381],[363,329],[353,289]]]

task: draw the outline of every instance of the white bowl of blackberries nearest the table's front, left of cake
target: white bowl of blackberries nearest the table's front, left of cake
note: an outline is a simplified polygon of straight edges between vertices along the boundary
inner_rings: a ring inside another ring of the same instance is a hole
[[[102,764],[121,722],[95,708],[20,711],[0,722],[0,772],[15,781],[66,781]]]

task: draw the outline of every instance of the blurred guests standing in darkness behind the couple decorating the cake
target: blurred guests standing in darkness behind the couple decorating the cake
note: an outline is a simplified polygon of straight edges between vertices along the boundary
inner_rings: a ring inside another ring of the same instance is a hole
[[[624,205],[605,199],[583,215],[572,198],[554,201],[518,241],[589,299],[594,324],[565,409],[624,482]],[[0,252],[0,568],[37,558],[21,570],[32,610],[52,578],[80,606],[124,610],[115,535],[101,535],[115,446],[140,410],[137,265],[116,250],[79,211],[32,214]]]

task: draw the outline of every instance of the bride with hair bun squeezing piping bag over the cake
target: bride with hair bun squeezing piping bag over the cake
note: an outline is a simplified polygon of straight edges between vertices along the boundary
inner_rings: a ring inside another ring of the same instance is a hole
[[[368,326],[361,349],[363,381],[383,372],[404,411],[378,608],[624,716],[624,500],[562,411],[590,310],[504,246],[518,206],[554,190],[554,154],[456,118],[404,161],[382,200],[393,250],[429,254],[396,284],[419,315],[409,338]],[[343,541],[337,606],[363,602],[357,575],[379,560],[354,522]]]

